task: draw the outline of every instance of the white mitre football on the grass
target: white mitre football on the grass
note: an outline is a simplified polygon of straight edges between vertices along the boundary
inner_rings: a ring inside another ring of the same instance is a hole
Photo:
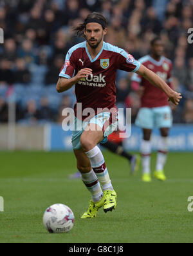
[[[43,216],[44,227],[50,233],[67,233],[74,225],[73,211],[64,204],[53,204],[46,209]]]

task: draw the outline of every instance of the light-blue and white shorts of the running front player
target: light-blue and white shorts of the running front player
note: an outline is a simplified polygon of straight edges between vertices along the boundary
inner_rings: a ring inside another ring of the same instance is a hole
[[[89,123],[95,123],[102,129],[104,133],[104,140],[100,143],[106,143],[108,136],[116,131],[118,127],[118,114],[116,114],[115,118],[112,118],[110,112],[102,112],[91,118],[89,122],[83,122],[75,117],[75,129],[72,134],[73,149],[81,148],[80,137]]]

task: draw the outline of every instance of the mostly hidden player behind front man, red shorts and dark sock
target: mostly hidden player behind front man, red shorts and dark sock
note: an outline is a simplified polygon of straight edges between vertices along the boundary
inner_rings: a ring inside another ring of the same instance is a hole
[[[104,147],[105,149],[109,149],[109,151],[111,151],[112,153],[123,156],[125,159],[127,159],[129,161],[129,164],[131,165],[130,173],[133,174],[138,171],[140,165],[140,156],[127,153],[123,146],[123,140],[123,138],[120,138],[119,132],[115,131],[114,133],[109,135],[108,141],[105,144],[100,145],[102,145],[102,147]],[[77,173],[69,175],[69,178],[81,178],[81,173],[77,171]]]

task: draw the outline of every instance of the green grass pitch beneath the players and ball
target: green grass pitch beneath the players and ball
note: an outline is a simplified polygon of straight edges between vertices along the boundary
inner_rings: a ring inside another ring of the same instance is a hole
[[[113,186],[118,193],[115,211],[98,211],[95,219],[82,220],[89,193],[81,180],[68,180],[76,171],[73,153],[0,152],[0,242],[193,242],[192,153],[170,153],[167,182],[143,184],[141,172],[129,175],[124,158],[104,152]],[[152,170],[156,155],[152,155]],[[42,215],[55,203],[68,205],[75,214],[69,233],[50,234]]]

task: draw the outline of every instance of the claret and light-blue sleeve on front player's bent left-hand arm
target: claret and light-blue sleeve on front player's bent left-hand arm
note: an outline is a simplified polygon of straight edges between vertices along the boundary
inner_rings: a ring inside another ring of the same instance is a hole
[[[73,56],[73,50],[70,49],[66,54],[64,66],[62,67],[59,77],[72,78],[75,74],[75,58]]]

